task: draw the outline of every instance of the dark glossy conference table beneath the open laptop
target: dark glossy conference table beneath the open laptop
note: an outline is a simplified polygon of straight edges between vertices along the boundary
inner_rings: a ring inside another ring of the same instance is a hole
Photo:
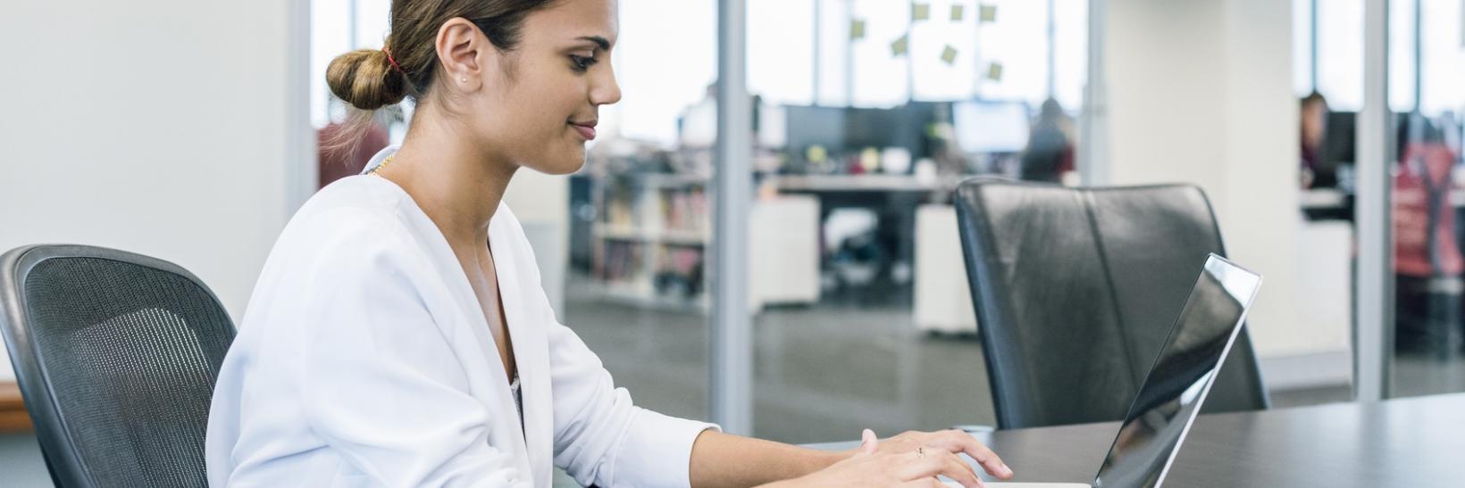
[[[1002,456],[1014,481],[1087,484],[1118,428],[1105,422],[973,435]],[[1195,419],[1166,487],[1461,487],[1462,456],[1465,394],[1214,413]]]

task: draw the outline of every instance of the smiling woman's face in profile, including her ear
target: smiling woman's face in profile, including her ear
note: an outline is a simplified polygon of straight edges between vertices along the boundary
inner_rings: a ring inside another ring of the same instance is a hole
[[[498,69],[463,101],[486,150],[545,174],[585,165],[599,107],[621,99],[611,69],[615,10],[615,0],[561,0],[524,18],[514,51],[491,54],[502,57],[486,64]]]

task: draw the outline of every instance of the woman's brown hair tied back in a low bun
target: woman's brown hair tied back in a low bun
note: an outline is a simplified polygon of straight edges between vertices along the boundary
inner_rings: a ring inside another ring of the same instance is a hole
[[[385,47],[337,56],[325,70],[325,83],[337,98],[363,111],[396,105],[407,96],[418,99],[426,95],[438,70],[435,44],[442,23],[467,19],[495,48],[507,53],[519,47],[524,18],[555,1],[393,0]]]

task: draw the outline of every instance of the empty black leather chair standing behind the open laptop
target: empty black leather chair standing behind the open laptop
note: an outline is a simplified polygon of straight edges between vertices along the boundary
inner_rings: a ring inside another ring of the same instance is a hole
[[[976,178],[955,200],[998,428],[1124,419],[1207,254],[1225,256],[1206,194]],[[1242,329],[1203,412],[1267,406]]]

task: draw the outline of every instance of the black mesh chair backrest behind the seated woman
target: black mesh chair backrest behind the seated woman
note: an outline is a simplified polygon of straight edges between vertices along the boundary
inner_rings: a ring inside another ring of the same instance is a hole
[[[182,267],[86,245],[0,256],[0,333],[57,487],[207,487],[234,324]]]

